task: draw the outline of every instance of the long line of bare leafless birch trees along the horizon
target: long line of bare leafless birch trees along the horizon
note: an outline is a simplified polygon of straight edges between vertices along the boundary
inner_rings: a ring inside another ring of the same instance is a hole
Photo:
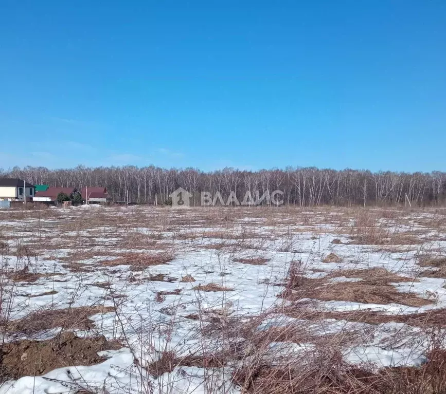
[[[97,167],[48,170],[45,167],[14,167],[1,170],[3,177],[23,178],[33,184],[50,186],[106,186],[114,201],[164,203],[178,187],[194,194],[193,204],[200,203],[200,192],[219,192],[224,199],[231,192],[242,201],[245,193],[269,190],[283,192],[285,203],[314,205],[413,205],[441,204],[446,199],[446,173],[396,173],[329,169],[292,168],[285,170],[202,172],[195,168],[170,170],[149,167]],[[407,198],[406,198],[407,196]],[[192,203],[192,201],[191,201]]]

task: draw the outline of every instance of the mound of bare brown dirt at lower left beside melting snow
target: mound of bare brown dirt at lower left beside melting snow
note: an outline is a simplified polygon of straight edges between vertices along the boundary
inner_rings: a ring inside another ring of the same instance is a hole
[[[98,364],[104,360],[98,351],[121,347],[104,336],[78,338],[73,332],[64,332],[47,341],[4,344],[0,347],[0,381],[40,376],[61,367]]]

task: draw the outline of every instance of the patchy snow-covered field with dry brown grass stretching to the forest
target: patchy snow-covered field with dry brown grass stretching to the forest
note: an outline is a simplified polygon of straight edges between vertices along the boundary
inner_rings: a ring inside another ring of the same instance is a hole
[[[0,258],[0,393],[276,392],[443,348],[446,210],[0,210]]]

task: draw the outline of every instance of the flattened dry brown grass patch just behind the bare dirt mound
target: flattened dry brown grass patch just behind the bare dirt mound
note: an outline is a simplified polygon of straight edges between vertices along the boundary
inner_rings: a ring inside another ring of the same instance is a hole
[[[94,322],[88,317],[96,313],[114,311],[114,307],[93,306],[67,309],[45,309],[6,323],[6,330],[11,333],[32,334],[42,330],[63,327],[64,329],[90,329]]]

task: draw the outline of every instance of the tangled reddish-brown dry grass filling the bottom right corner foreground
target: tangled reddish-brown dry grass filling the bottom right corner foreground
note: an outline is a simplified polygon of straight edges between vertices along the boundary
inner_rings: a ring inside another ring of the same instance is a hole
[[[281,394],[442,394],[446,392],[446,352],[434,350],[420,368],[355,367],[332,349],[280,364],[239,368],[234,381],[244,393]]]

